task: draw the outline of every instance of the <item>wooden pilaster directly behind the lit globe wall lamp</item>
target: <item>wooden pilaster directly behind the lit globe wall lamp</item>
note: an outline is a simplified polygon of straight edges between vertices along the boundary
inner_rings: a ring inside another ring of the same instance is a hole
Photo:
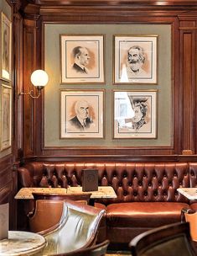
[[[40,68],[40,29],[39,15],[34,15],[34,19],[23,20],[23,91],[28,93],[35,89],[30,81],[34,70]],[[38,64],[39,63],[39,64]],[[36,111],[40,106],[39,99],[32,99],[29,95],[23,95],[23,154],[25,156],[34,155],[34,144],[38,140]]]

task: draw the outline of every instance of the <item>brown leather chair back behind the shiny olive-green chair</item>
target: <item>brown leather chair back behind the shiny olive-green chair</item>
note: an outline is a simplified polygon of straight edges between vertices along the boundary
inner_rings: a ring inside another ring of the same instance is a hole
[[[54,193],[33,193],[34,211],[29,213],[29,231],[41,232],[53,227],[60,221],[64,200],[75,200],[88,204],[91,193],[60,195]]]

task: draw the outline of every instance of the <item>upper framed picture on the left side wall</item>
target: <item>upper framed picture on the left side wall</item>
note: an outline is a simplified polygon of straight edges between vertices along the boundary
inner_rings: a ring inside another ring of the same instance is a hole
[[[12,23],[1,13],[1,78],[7,81],[11,81],[11,36]]]

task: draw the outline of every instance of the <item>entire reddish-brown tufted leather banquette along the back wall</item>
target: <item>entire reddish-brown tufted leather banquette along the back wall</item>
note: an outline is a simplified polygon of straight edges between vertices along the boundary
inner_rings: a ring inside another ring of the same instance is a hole
[[[18,189],[78,186],[83,168],[97,168],[99,185],[110,185],[117,193],[117,199],[96,202],[106,210],[99,240],[107,238],[111,245],[129,243],[141,232],[180,221],[181,209],[196,205],[177,189],[196,186],[197,163],[32,162],[18,168]]]

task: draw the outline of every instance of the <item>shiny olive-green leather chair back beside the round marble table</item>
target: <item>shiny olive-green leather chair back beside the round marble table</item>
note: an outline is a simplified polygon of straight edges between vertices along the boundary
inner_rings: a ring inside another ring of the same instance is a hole
[[[43,254],[70,253],[96,242],[98,226],[105,210],[64,201],[60,222],[42,234],[47,241]]]

